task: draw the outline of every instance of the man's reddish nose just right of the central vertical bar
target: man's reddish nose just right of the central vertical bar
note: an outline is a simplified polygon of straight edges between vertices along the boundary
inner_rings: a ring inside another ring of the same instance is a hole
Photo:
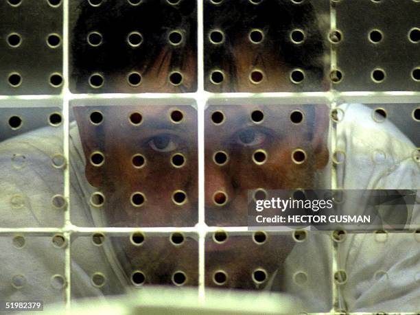
[[[232,198],[233,187],[229,175],[229,161],[226,165],[217,165],[210,156],[205,163],[205,206],[223,205]]]

